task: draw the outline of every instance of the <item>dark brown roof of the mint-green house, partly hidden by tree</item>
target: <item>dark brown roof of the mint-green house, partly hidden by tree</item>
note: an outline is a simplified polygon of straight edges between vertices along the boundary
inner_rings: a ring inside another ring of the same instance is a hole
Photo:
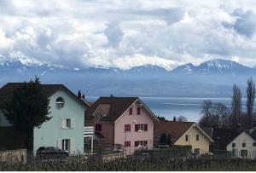
[[[8,83],[0,89],[0,107],[4,107],[4,101],[11,97],[15,90],[19,89],[22,84],[23,83]],[[73,92],[67,89],[67,87],[65,87],[63,84],[40,84],[40,86],[44,92],[44,95],[47,95],[48,97],[55,94],[55,92],[59,90],[65,90],[74,99],[79,101],[79,103],[81,103],[84,107],[90,107],[86,101],[79,99],[77,95],[74,95]]]

